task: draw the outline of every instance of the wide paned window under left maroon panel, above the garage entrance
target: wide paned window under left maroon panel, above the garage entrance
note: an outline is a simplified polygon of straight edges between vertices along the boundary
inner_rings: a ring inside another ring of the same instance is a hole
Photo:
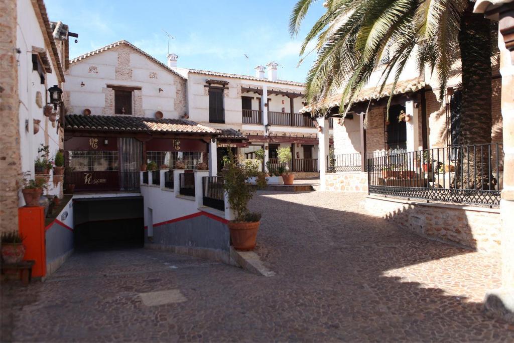
[[[117,151],[69,151],[69,166],[74,171],[117,171]]]

